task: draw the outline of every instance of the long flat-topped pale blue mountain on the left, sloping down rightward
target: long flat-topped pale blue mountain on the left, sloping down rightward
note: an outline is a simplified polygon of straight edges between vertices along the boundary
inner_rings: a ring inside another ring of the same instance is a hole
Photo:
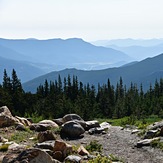
[[[64,68],[100,69],[100,66],[102,68],[120,66],[132,60],[121,51],[94,46],[78,38],[67,40],[0,39],[0,48],[2,48],[0,50],[2,57],[50,64],[50,70],[52,65],[55,67],[54,70]]]

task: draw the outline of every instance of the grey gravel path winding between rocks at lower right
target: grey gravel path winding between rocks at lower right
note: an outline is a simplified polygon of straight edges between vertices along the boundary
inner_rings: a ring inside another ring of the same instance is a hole
[[[140,138],[137,134],[131,134],[131,130],[111,126],[105,135],[88,135],[78,141],[70,141],[73,144],[88,144],[97,140],[103,146],[105,155],[113,154],[126,163],[163,163],[163,152],[156,148],[137,148],[135,144]]]

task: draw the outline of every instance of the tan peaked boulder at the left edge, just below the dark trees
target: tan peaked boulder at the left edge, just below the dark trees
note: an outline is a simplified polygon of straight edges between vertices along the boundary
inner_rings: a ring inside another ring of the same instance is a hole
[[[7,106],[0,107],[0,127],[13,126],[19,121],[14,118]]]

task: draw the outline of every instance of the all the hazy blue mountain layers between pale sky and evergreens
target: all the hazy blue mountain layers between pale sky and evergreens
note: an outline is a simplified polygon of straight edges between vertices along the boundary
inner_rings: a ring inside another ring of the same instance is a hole
[[[1,81],[4,69],[11,72],[13,68],[24,89],[31,92],[46,79],[57,80],[58,75],[62,79],[75,75],[84,84],[96,87],[108,78],[116,86],[122,77],[128,87],[131,82],[138,86],[142,83],[145,90],[162,77],[162,39],[102,42],[93,43],[101,43],[95,46],[79,38],[0,39]]]

